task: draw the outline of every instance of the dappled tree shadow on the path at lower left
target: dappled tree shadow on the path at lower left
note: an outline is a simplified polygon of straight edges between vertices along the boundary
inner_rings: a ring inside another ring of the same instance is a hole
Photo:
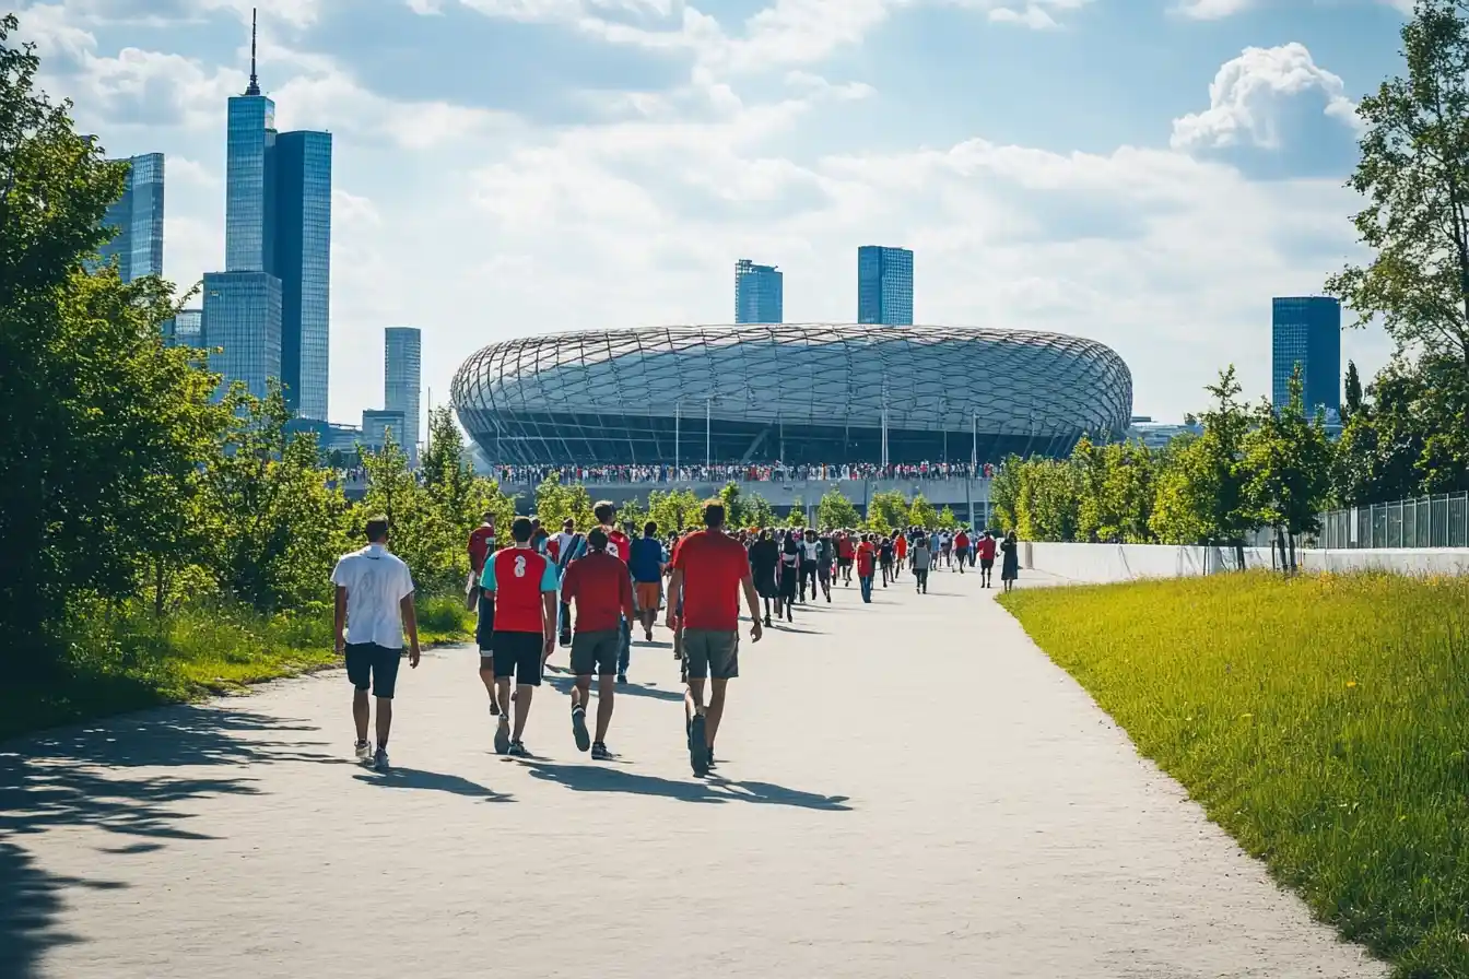
[[[24,847],[26,837],[93,826],[129,838],[97,848],[104,878],[110,859],[207,840],[188,828],[187,810],[259,794],[248,766],[350,763],[313,751],[329,744],[303,737],[314,731],[231,706],[184,705],[0,744],[0,979],[40,976],[48,948],[84,941],[59,923],[69,889],[125,887],[48,873]],[[200,768],[228,771],[185,771]]]

